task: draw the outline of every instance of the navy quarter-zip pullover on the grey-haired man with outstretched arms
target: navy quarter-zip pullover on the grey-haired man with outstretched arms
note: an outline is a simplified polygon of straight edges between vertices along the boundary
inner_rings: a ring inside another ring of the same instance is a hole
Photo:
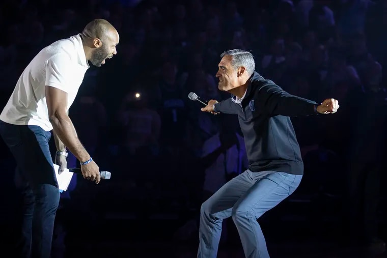
[[[303,175],[303,162],[290,117],[317,114],[317,103],[283,91],[257,72],[248,81],[242,103],[235,96],[216,103],[216,112],[237,114],[253,172]]]

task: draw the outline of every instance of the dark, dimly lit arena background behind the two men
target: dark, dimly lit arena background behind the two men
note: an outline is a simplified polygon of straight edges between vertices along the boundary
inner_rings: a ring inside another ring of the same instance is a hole
[[[231,48],[251,51],[256,71],[289,93],[340,103],[334,115],[292,118],[305,177],[259,219],[272,257],[360,255],[343,247],[343,196],[353,161],[380,168],[385,239],[387,2],[310,2],[311,8],[297,0],[3,0],[1,106],[46,45],[80,33],[94,18],[107,19],[120,34],[117,56],[88,70],[70,108],[80,140],[112,179],[95,186],[78,175],[62,195],[53,257],[195,257],[195,226],[178,230],[198,215],[202,147],[219,121],[200,113],[187,95],[230,97],[217,90],[214,75],[220,53]],[[1,250],[7,252],[17,236],[20,195],[3,141],[0,150]],[[77,165],[69,157],[69,166]],[[242,257],[230,222],[219,255]]]

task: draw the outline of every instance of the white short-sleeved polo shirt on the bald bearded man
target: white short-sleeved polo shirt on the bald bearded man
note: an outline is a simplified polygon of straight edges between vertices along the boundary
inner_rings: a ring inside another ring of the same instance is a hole
[[[67,93],[67,110],[89,68],[80,34],[43,48],[24,69],[0,120],[52,130],[48,120],[46,85]]]

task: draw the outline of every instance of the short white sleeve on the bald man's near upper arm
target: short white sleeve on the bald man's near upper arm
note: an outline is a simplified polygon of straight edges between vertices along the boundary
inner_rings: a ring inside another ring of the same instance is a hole
[[[72,66],[70,57],[66,54],[51,56],[46,64],[45,84],[68,93],[71,87],[69,80],[72,76]]]

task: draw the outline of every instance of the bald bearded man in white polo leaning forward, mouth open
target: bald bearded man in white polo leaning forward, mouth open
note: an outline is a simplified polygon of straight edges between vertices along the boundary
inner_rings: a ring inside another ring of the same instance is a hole
[[[0,135],[15,157],[23,180],[21,253],[13,257],[49,258],[60,190],[48,140],[53,131],[61,173],[69,150],[85,179],[100,181],[99,168],[82,146],[68,117],[89,62],[97,67],[116,53],[119,35],[96,19],[81,34],[43,48],[25,68],[0,114]],[[79,114],[88,116],[88,113]]]

